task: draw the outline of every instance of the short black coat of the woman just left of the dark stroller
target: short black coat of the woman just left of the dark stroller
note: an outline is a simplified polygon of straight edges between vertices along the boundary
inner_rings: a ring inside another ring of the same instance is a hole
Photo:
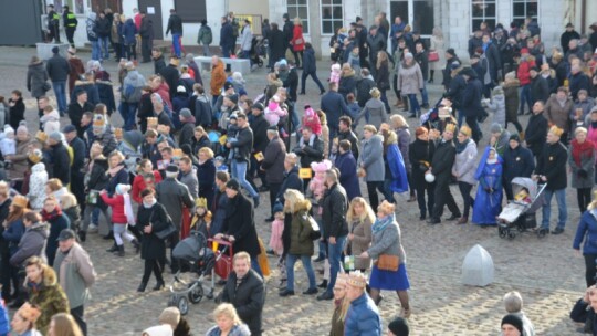
[[[151,233],[145,233],[145,228],[151,223]],[[143,232],[140,256],[145,260],[166,260],[166,242],[155,233],[168,227],[166,209],[156,202],[151,208],[139,206],[137,225]]]

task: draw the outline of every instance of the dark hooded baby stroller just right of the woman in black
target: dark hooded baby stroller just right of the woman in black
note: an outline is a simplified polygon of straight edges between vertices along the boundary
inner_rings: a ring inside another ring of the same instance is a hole
[[[210,300],[213,298],[216,287],[213,267],[221,258],[221,253],[216,256],[208,246],[206,237],[201,232],[193,230],[188,238],[181,240],[175,246],[172,256],[178,259],[181,264],[188,265],[191,273],[198,275],[195,280],[184,281],[179,271],[170,284],[171,295],[168,306],[178,307],[180,314],[186,315],[189,312],[189,301],[198,304],[203,298],[203,295]],[[211,284],[208,286],[203,284],[207,275],[211,275]],[[207,294],[205,294],[206,292]]]

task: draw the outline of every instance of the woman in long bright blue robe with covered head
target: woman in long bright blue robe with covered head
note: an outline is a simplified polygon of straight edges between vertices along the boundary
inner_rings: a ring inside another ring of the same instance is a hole
[[[502,211],[502,158],[495,148],[488,146],[474,178],[479,180],[473,206],[472,222],[479,225],[494,225]]]

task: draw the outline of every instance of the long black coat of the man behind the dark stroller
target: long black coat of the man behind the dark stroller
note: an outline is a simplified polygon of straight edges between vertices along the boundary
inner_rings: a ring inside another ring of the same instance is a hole
[[[232,248],[234,253],[244,251],[256,258],[261,252],[254,222],[253,203],[239,192],[234,198],[229,198],[226,204],[226,219],[222,232],[234,237]]]

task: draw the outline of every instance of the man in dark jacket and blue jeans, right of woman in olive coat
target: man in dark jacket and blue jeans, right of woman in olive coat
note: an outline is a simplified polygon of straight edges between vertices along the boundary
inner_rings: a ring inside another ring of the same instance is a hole
[[[325,186],[327,190],[322,200],[322,222],[324,223],[323,238],[327,241],[329,282],[327,290],[317,296],[317,300],[334,298],[333,290],[336,284],[336,276],[342,267],[341,255],[348,235],[348,224],[346,222],[348,198],[346,191],[339,185],[339,177],[335,169],[325,172]]]

